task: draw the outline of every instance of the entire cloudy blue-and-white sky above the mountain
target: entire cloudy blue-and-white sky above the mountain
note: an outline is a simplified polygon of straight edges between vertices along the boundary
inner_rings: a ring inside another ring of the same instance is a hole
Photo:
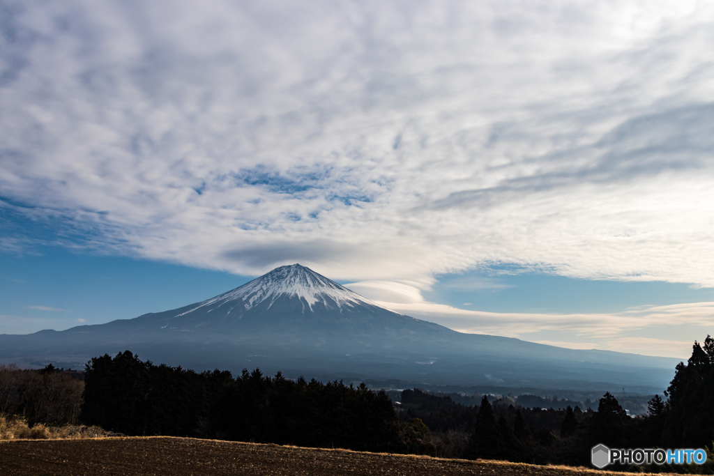
[[[301,263],[472,333],[714,333],[714,4],[0,0],[0,333]]]

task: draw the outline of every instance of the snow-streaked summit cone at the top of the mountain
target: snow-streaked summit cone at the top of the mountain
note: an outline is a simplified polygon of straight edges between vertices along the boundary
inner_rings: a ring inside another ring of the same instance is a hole
[[[270,273],[264,274],[240,288],[205,300],[196,308],[183,314],[191,313],[207,305],[220,307],[225,304],[230,305],[232,310],[236,305],[242,304],[248,310],[265,300],[270,300],[270,305],[272,305],[280,297],[291,298],[293,296],[304,300],[311,310],[315,303],[323,303],[327,308],[336,305],[338,309],[343,306],[354,308],[361,305],[381,307],[310,268],[296,263],[275,268]]]

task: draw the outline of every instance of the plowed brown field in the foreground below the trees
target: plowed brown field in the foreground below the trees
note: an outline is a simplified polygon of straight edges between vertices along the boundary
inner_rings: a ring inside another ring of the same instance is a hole
[[[623,476],[625,473],[193,438],[121,437],[2,441],[0,475]]]

